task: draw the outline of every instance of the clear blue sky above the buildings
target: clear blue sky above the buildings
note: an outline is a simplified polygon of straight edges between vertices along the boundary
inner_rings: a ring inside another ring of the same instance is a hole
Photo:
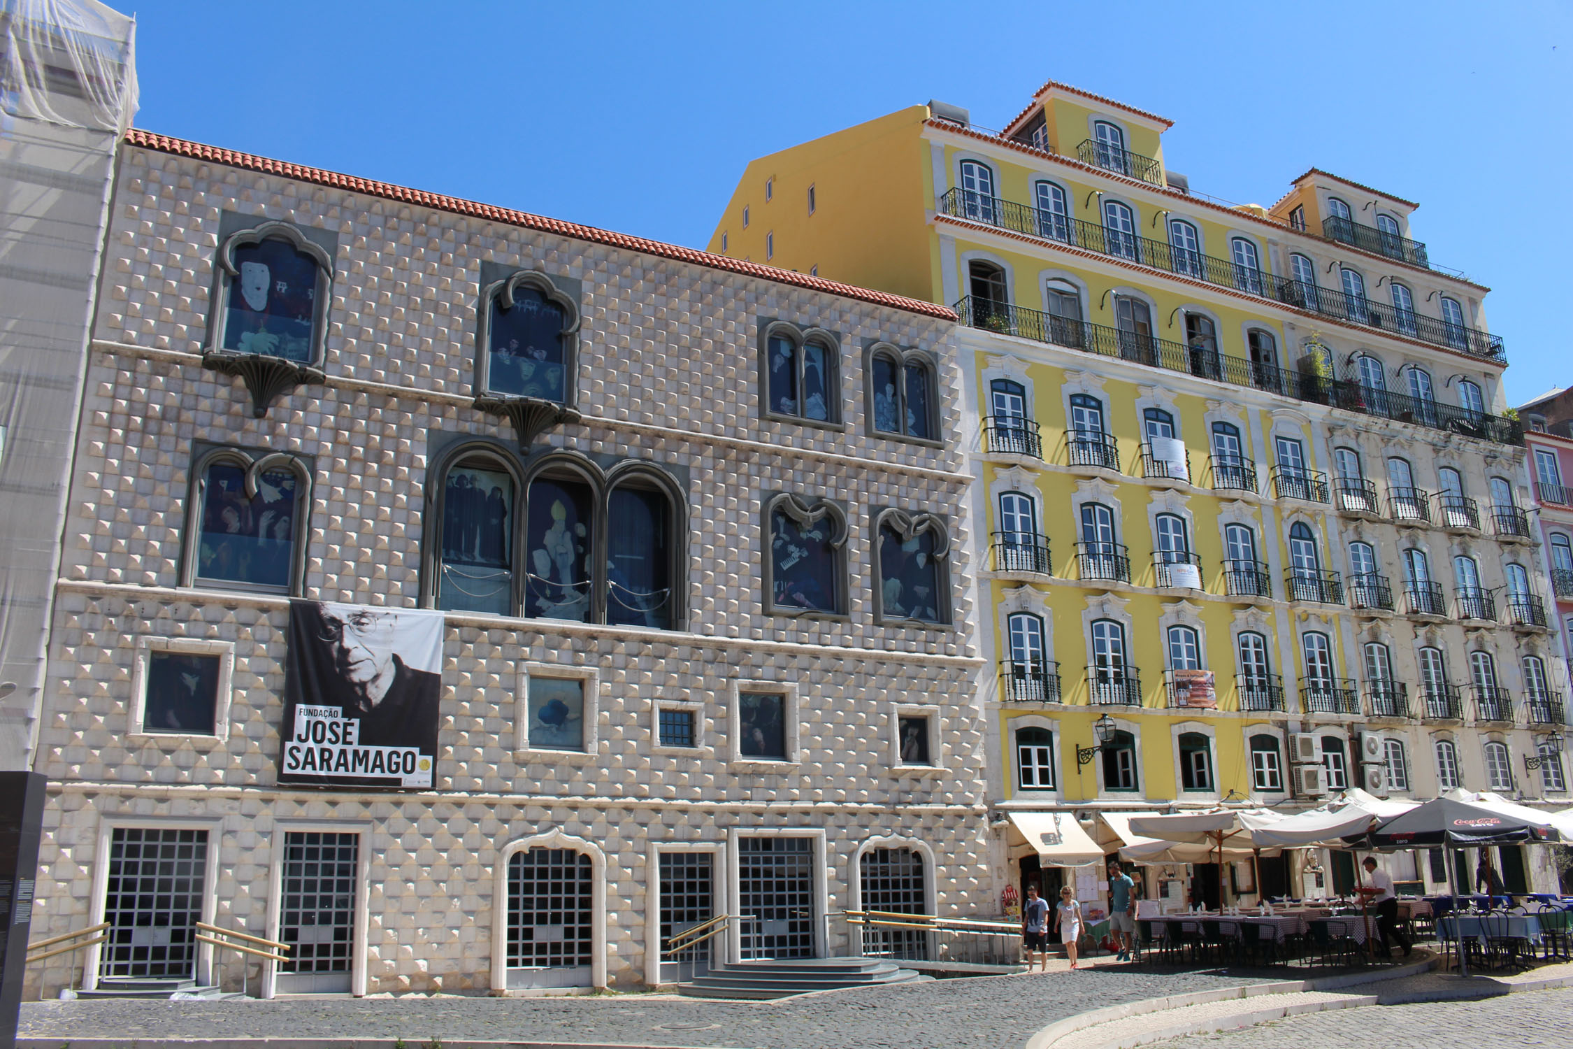
[[[755,156],[930,98],[999,127],[1062,80],[1173,120],[1169,165],[1214,197],[1269,204],[1317,165],[1419,201],[1431,259],[1494,289],[1509,399],[1573,382],[1568,3],[135,14],[140,127],[695,247]]]

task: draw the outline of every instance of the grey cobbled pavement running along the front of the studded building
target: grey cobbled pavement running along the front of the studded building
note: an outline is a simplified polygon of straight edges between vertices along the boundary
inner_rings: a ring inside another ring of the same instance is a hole
[[[1046,1024],[1140,999],[1277,983],[1101,966],[838,991],[782,1002],[629,994],[571,999],[293,999],[27,1002],[24,1038],[431,1038],[736,1046],[741,1049],[1021,1049]]]

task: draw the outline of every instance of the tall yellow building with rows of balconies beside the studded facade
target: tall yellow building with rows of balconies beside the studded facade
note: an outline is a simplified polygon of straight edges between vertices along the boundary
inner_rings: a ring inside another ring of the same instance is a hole
[[[1093,813],[1501,790],[1565,720],[1486,289],[1430,266],[1414,203],[1320,170],[1192,192],[1169,127],[1052,82],[1000,132],[904,109],[752,162],[708,245],[960,315],[1007,882],[1051,863],[1019,813],[1112,851]]]

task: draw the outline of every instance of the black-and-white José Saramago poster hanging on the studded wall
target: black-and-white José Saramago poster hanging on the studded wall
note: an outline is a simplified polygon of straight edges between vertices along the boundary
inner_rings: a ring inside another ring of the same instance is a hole
[[[289,602],[280,783],[429,788],[442,612]]]

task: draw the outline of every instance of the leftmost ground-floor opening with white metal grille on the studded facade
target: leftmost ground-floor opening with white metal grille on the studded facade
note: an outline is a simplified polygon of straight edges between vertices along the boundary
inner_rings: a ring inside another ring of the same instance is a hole
[[[197,961],[208,832],[115,827],[109,841],[99,975],[190,978]]]

